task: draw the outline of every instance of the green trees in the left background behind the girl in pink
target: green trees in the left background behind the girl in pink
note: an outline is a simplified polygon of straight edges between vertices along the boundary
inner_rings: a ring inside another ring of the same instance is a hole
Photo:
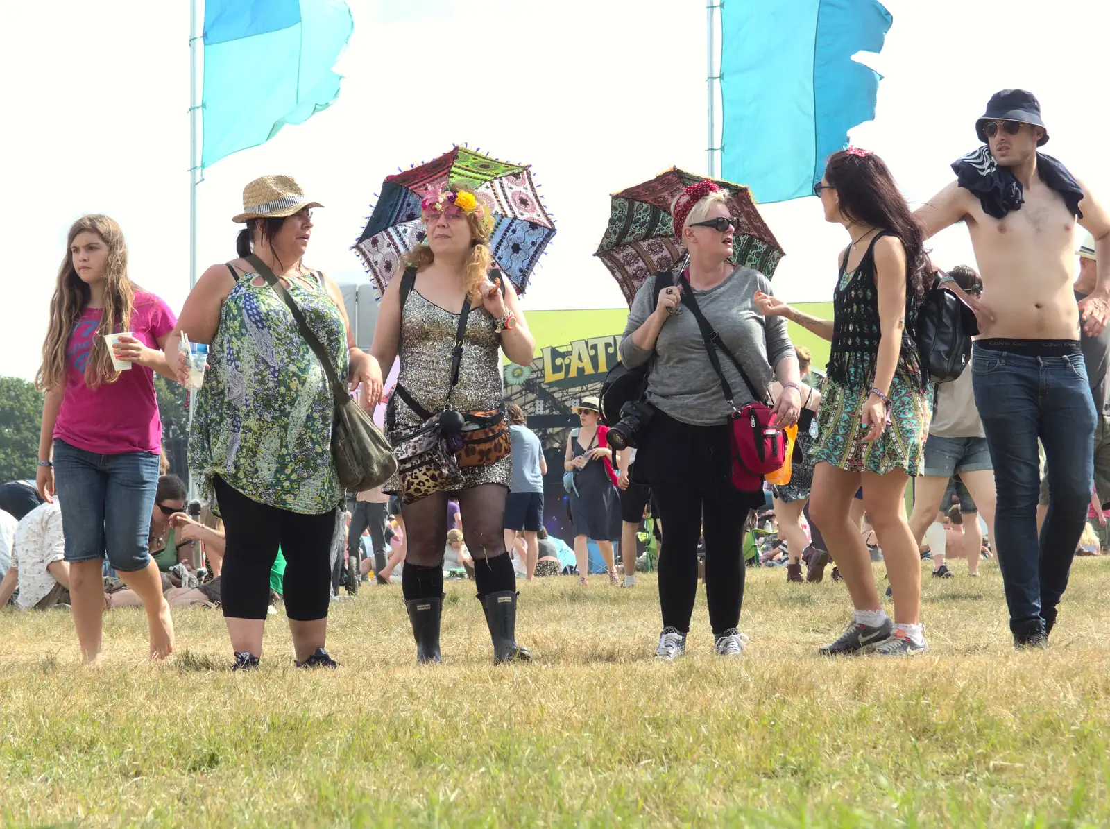
[[[157,374],[154,390],[162,415],[162,438],[169,448],[188,434],[186,392]],[[0,483],[34,478],[41,426],[42,392],[20,377],[0,376]],[[184,457],[173,459],[174,472],[182,474]]]

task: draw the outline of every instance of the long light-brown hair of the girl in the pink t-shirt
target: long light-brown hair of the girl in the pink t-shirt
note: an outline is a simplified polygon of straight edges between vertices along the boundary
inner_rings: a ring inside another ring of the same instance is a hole
[[[65,352],[91,295],[89,286],[77,275],[70,252],[73,240],[85,231],[95,233],[103,241],[108,247],[108,261],[104,265],[104,309],[84,370],[84,384],[95,388],[101,383],[114,383],[120,377],[112,367],[112,355],[102,335],[131,327],[131,306],[138,286],[128,277],[128,246],[120,225],[109,216],[93,213],[73,222],[65,237],[65,256],[58,269],[58,282],[50,300],[50,327],[42,343],[42,364],[34,377],[39,390],[65,386]]]

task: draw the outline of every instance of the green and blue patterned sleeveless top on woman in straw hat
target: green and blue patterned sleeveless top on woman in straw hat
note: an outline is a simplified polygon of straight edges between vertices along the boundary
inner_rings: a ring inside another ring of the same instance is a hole
[[[315,275],[287,290],[347,374],[343,316]],[[258,274],[238,276],[220,311],[204,385],[196,395],[189,464],[215,508],[212,482],[260,504],[319,515],[342,496],[331,438],[334,401],[327,375],[282,299]]]

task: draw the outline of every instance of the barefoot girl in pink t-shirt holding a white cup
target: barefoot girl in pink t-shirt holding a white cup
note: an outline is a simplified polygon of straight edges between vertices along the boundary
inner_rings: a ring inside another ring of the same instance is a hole
[[[87,661],[100,655],[105,554],[143,601],[151,657],[173,650],[148,536],[162,442],[154,372],[175,378],[163,351],[175,323],[162,300],[128,277],[128,250],[114,221],[87,215],[73,223],[37,377],[47,393],[37,483],[44,498],[57,484],[73,621]],[[104,336],[122,332],[110,352]],[[128,367],[117,371],[113,357]]]

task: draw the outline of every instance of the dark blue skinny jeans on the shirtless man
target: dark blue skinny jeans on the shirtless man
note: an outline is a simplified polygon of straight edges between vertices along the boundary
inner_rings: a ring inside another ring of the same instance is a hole
[[[1087,522],[1094,472],[1094,403],[1082,354],[1030,357],[976,345],[976,405],[982,417],[998,508],[996,550],[1018,644],[1051,630]],[[1040,438],[1050,501],[1037,538]]]

